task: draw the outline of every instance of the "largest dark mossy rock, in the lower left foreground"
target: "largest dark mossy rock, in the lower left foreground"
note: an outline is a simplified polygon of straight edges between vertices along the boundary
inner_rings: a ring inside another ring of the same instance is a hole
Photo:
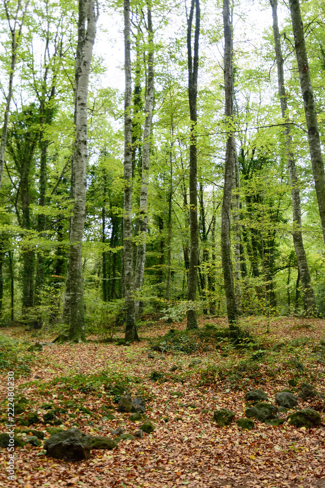
[[[67,460],[89,459],[91,436],[77,428],[62,430],[52,435],[44,443],[48,456]]]

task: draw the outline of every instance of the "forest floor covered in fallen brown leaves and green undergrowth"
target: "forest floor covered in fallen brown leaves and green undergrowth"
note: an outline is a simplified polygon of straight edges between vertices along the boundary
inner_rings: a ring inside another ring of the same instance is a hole
[[[320,412],[317,428],[255,421],[248,431],[236,424],[245,418],[249,389],[262,388],[274,405],[275,394],[293,378],[325,393],[325,321],[278,317],[266,334],[263,317],[246,318],[242,325],[255,342],[240,348],[227,338],[213,339],[211,324],[226,328],[225,318],[199,317],[198,323],[200,333],[186,336],[178,332],[185,321],[170,325],[148,316],[139,327],[141,342],[131,346],[104,344],[96,336],[82,345],[57,345],[50,344],[55,335],[47,330],[32,337],[19,326],[0,329],[1,432],[7,428],[8,370],[15,371],[15,398],[28,401],[16,416],[18,430],[28,412],[36,411],[38,422],[30,428],[48,438],[43,415],[50,403],[62,409],[55,424],[65,429],[75,425],[85,433],[111,436],[111,429],[122,427],[132,434],[139,423],[118,411],[118,398],[108,386],[115,382],[122,382],[133,397],[145,398],[146,415],[155,426],[143,439],[122,440],[113,450],[92,450],[89,460],[79,462],[48,457],[42,445],[15,447],[14,482],[6,478],[8,452],[1,448],[0,487],[325,487],[324,400],[298,403]],[[168,334],[171,326],[175,332]],[[36,341],[47,345],[28,351]],[[173,365],[178,369],[171,372]],[[235,413],[229,427],[217,427],[216,408]]]

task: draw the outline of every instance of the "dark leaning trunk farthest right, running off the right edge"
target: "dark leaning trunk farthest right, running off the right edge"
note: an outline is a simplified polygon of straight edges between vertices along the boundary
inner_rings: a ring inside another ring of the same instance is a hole
[[[321,141],[318,130],[315,99],[310,79],[308,58],[306,52],[304,26],[301,20],[298,0],[289,0],[292,29],[298,63],[301,91],[304,99],[304,108],[308,130],[308,142],[311,167],[313,170],[318,209],[321,217],[323,238],[325,242],[325,173],[322,156]],[[302,276],[300,277],[302,279]],[[312,304],[311,304],[312,306]]]

